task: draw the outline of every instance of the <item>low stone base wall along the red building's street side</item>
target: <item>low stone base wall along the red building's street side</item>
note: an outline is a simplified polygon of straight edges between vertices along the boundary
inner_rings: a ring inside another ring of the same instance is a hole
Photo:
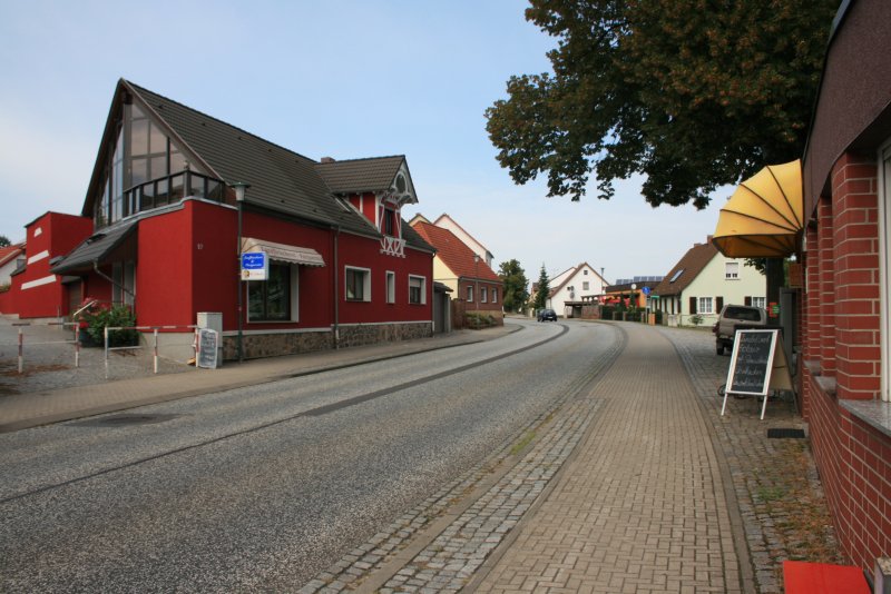
[[[429,338],[433,336],[433,328],[429,321],[413,324],[368,324],[355,326],[341,326],[340,347],[375,345],[378,343],[394,343],[414,338]],[[278,357],[281,355],[297,355],[334,348],[334,333],[330,330],[304,333],[275,333],[244,335],[244,358],[257,359],[263,357]],[[223,360],[238,358],[238,337],[223,337]]]

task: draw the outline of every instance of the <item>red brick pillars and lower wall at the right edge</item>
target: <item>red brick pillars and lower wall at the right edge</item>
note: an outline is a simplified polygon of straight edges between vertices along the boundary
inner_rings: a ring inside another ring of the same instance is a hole
[[[844,155],[831,179],[805,231],[803,408],[842,551],[872,571],[891,553],[891,437],[841,403],[880,390],[877,164]]]

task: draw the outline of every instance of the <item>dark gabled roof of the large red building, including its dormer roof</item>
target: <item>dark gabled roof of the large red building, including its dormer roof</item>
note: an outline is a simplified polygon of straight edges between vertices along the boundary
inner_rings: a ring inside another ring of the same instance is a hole
[[[114,141],[115,118],[125,101],[139,102],[149,117],[165,128],[168,136],[180,146],[196,169],[227,184],[241,181],[251,187],[245,192],[248,207],[273,210],[326,227],[339,226],[346,231],[380,237],[378,229],[360,212],[333,195],[317,169],[321,164],[303,155],[280,147],[222,120],[157,95],[121,79],[112,100],[102,142],[94,169],[82,214],[92,216],[92,200],[104,175],[105,155]],[[353,185],[369,184],[362,188],[374,191],[382,177],[404,162],[404,157],[383,157],[344,164],[353,170]],[[361,166],[351,164],[362,162]],[[336,168],[335,168],[336,169]],[[336,176],[335,176],[336,177]],[[344,176],[346,179],[349,176]],[[390,178],[392,181],[392,177]],[[409,245],[411,240],[407,237]],[[428,246],[418,246],[427,248]]]

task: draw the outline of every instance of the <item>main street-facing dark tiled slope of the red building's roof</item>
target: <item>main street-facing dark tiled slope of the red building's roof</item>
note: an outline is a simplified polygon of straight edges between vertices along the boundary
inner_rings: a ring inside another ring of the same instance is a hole
[[[121,85],[145,101],[199,158],[197,167],[204,161],[212,176],[249,184],[246,204],[380,236],[368,219],[332,196],[316,161],[131,82]]]

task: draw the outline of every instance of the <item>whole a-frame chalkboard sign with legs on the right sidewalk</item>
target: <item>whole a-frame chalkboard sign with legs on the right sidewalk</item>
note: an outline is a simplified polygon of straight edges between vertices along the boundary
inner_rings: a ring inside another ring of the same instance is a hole
[[[776,348],[780,330],[736,330],[731,367],[724,390],[721,416],[727,407],[727,396],[762,396],[761,418],[767,409],[767,393],[792,389],[792,378],[783,348]]]

